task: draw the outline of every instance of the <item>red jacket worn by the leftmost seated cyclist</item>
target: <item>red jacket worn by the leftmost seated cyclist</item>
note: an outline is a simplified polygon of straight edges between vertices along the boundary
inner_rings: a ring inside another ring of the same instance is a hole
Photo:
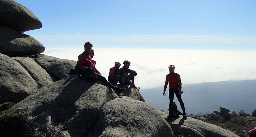
[[[88,67],[94,66],[92,63],[92,57],[87,55],[85,51],[78,56],[79,69],[86,71]]]

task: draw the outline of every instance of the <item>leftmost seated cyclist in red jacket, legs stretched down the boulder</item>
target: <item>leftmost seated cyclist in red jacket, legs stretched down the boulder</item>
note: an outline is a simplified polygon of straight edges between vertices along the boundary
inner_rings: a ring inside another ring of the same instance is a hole
[[[96,80],[101,80],[104,84],[113,88],[117,93],[124,92],[125,88],[118,88],[110,84],[104,76],[93,66],[92,57],[90,52],[92,50],[92,43],[86,42],[84,44],[84,52],[78,56],[78,67],[79,74],[83,74],[88,81],[94,82]]]

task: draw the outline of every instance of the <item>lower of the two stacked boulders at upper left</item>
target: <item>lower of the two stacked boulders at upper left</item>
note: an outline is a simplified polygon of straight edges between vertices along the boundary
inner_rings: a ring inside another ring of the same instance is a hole
[[[37,55],[44,52],[44,50],[44,45],[34,37],[0,25],[0,53],[9,57],[16,57]]]

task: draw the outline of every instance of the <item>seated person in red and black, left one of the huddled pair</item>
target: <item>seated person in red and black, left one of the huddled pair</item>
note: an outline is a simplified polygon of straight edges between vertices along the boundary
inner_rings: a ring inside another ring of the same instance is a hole
[[[111,84],[118,83],[117,75],[118,75],[118,70],[120,66],[121,66],[121,63],[115,62],[115,67],[110,68],[109,75],[108,75],[108,82],[110,82]]]

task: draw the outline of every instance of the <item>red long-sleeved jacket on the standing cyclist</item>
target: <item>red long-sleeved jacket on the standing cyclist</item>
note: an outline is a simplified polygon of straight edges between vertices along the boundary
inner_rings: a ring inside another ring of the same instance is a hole
[[[172,74],[166,75],[164,91],[167,88],[168,82],[169,82],[170,88],[179,88],[179,90],[181,91],[181,81],[180,81],[180,75],[178,73],[173,72]],[[177,87],[177,84],[179,84],[179,87]]]

